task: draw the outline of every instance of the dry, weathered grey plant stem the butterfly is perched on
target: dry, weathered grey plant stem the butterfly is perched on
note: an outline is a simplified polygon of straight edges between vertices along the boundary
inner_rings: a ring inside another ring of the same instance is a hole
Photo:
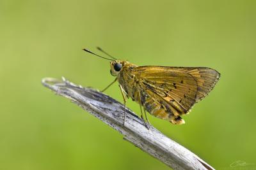
[[[56,94],[71,99],[78,106],[123,134],[125,140],[167,166],[173,169],[214,169],[184,146],[164,136],[152,125],[148,125],[149,129],[147,129],[141,118],[128,108],[125,110],[126,118],[123,127],[124,105],[106,94],[75,85],[65,78],[62,80],[44,78],[42,83]]]

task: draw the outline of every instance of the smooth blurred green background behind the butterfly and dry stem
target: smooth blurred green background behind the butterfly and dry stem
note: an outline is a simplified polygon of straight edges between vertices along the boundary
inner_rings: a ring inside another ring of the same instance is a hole
[[[256,164],[255,7],[249,0],[1,0],[0,169],[169,169],[41,85],[65,76],[106,87],[109,62],[81,50],[95,46],[139,66],[220,71],[185,125],[150,122],[216,169]],[[122,101],[117,83],[106,93]]]

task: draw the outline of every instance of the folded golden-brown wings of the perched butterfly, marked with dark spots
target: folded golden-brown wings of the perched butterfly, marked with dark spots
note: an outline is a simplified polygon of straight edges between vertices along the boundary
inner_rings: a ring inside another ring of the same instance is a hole
[[[145,109],[173,124],[184,123],[180,115],[207,96],[220,78],[218,71],[207,67],[140,66],[132,73]]]

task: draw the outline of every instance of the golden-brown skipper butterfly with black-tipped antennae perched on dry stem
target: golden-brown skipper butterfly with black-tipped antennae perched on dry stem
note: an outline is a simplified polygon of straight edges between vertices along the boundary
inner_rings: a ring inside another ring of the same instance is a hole
[[[220,79],[220,73],[209,67],[136,66],[112,57],[99,47],[97,49],[111,59],[83,50],[111,60],[110,73],[116,78],[108,87],[118,81],[124,106],[131,97],[132,101],[140,104],[141,118],[144,120],[143,108],[148,124],[147,112],[172,124],[184,124],[181,116],[188,114],[195,103],[204,99]]]

